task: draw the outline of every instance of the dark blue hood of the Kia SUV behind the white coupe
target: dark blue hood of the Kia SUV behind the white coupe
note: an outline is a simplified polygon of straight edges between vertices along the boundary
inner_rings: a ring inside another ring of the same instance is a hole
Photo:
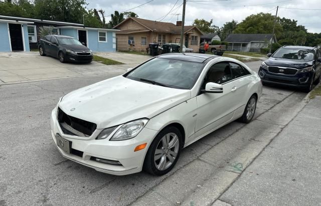
[[[296,68],[296,69],[302,69],[313,65],[313,61],[301,61],[301,60],[281,59],[281,58],[273,58],[273,57],[270,57],[264,62],[267,66],[289,67],[289,68]]]

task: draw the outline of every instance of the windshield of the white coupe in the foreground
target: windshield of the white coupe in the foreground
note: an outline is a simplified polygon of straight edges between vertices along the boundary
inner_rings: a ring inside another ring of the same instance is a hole
[[[191,89],[202,69],[202,63],[154,58],[130,72],[126,77],[160,86]]]

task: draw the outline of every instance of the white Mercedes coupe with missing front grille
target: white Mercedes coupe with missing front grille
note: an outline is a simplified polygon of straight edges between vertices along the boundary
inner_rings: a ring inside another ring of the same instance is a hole
[[[235,59],[164,54],[60,98],[52,138],[64,157],[97,171],[163,175],[184,147],[250,122],[261,94],[260,77]]]

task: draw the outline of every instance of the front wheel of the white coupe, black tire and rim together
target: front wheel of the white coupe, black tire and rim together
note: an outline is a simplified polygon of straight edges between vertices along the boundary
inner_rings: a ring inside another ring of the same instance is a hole
[[[182,134],[170,126],[157,134],[146,153],[143,169],[153,175],[164,175],[172,170],[180,157]]]

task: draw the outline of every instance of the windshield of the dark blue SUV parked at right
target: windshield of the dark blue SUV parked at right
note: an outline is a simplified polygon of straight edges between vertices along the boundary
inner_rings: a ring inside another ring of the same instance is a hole
[[[313,55],[313,50],[281,48],[278,51],[276,51],[272,57],[282,58],[282,59],[312,61],[314,55]]]

